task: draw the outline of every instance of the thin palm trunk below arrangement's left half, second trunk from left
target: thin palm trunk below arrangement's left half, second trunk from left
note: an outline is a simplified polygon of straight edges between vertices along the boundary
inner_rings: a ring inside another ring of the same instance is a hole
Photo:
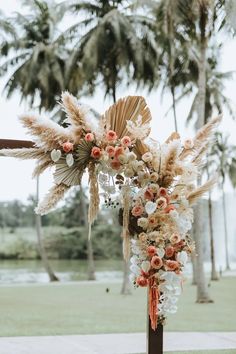
[[[87,208],[84,200],[83,188],[80,186],[80,201],[81,208],[84,218],[84,225],[86,229],[87,235],[89,234],[89,225],[88,225],[88,217],[87,217]],[[93,257],[93,244],[91,237],[87,239],[87,260],[88,260],[88,280],[95,280],[95,265],[94,265],[94,257]]]

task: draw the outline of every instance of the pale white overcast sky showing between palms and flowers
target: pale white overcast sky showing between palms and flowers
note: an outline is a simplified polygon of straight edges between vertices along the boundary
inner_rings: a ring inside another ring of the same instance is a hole
[[[20,11],[21,1],[8,0],[1,1],[0,9],[5,14],[13,11]],[[236,39],[225,40],[222,52],[222,71],[236,71]],[[18,116],[30,110],[25,103],[20,104],[19,95],[15,94],[11,99],[6,100],[3,92],[4,79],[0,80],[0,139],[30,139],[19,123]],[[161,99],[159,90],[148,93],[145,90],[137,90],[134,86],[118,90],[118,98],[126,95],[142,95],[152,113],[151,136],[160,142],[164,141],[174,130],[173,115],[170,113],[165,117],[165,113],[171,105],[171,98],[168,92]],[[236,82],[235,77],[227,83],[225,95],[233,101],[236,109]],[[98,112],[104,112],[112,104],[111,99],[104,99],[104,91],[98,88],[93,97],[83,98],[83,103],[89,104]],[[177,106],[177,119],[179,132],[183,138],[192,137],[194,132],[191,127],[185,127],[185,118],[191,105],[191,97],[185,99]],[[31,111],[32,112],[32,111]],[[236,122],[229,118],[227,112],[224,113],[223,122],[220,129],[230,135],[231,143],[236,142]],[[36,183],[31,178],[34,168],[32,161],[18,161],[13,158],[0,157],[0,201],[19,199],[25,202],[29,194],[34,194]],[[45,194],[52,185],[52,172],[45,172],[40,179],[41,195]],[[227,190],[231,187],[228,184]]]

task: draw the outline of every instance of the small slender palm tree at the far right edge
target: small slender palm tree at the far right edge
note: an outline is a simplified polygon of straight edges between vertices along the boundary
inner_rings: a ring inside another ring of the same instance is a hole
[[[226,200],[225,200],[225,180],[226,176],[230,178],[232,184],[234,185],[235,175],[236,175],[236,165],[235,165],[235,154],[236,148],[228,142],[228,136],[223,136],[222,133],[216,134],[216,144],[212,147],[212,156],[214,156],[215,164],[218,166],[218,171],[221,179],[221,189],[222,189],[222,208],[223,208],[223,219],[224,219],[224,234],[225,234],[225,259],[226,259],[226,269],[230,269],[229,261],[229,245],[228,245],[228,227],[227,227],[227,211],[226,211]]]

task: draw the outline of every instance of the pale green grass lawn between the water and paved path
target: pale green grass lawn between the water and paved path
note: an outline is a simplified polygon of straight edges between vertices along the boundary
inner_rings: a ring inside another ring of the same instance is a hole
[[[0,336],[145,331],[145,289],[121,296],[120,288],[92,282],[2,286]],[[179,311],[169,317],[166,330],[236,331],[236,278],[214,282],[210,290],[215,303],[196,304],[195,287],[185,284]]]

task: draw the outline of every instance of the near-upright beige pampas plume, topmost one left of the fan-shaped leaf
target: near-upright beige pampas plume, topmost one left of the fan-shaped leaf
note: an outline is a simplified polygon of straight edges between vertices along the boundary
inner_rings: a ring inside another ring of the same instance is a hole
[[[71,123],[74,140],[77,143],[81,138],[82,129],[86,129],[86,112],[79,104],[76,97],[69,92],[63,92],[61,95],[62,107],[66,112],[67,118]]]

